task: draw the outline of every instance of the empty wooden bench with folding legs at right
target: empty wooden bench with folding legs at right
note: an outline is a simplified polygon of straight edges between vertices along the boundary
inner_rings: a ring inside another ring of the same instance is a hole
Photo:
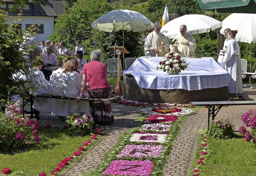
[[[194,106],[208,106],[208,129],[210,125],[210,117],[214,120],[222,106],[226,105],[256,105],[256,101],[193,101],[190,102]],[[215,109],[215,106],[218,106]]]

